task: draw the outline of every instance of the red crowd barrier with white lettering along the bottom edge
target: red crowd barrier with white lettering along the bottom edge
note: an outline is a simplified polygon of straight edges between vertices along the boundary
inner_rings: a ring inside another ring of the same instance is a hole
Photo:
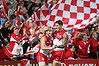
[[[20,61],[0,61],[0,66],[20,66]],[[38,66],[36,60],[30,60],[30,66]],[[64,60],[63,66],[99,66],[99,59]]]

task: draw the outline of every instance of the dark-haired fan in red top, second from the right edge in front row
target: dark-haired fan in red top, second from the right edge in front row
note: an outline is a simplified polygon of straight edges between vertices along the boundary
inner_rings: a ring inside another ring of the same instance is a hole
[[[88,46],[89,42],[87,41],[87,35],[81,34],[80,35],[80,42],[79,42],[79,49],[78,53],[80,58],[88,58]]]

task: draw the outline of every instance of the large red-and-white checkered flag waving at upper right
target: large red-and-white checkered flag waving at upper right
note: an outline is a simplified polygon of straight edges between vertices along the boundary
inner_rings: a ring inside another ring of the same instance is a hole
[[[53,27],[55,21],[62,20],[65,29],[81,29],[95,20],[98,11],[98,0],[60,0],[47,15],[47,25]]]

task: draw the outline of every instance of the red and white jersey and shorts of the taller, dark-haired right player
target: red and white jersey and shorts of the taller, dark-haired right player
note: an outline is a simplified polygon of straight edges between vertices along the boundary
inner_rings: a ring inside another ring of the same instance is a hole
[[[61,31],[56,31],[55,32],[55,34],[54,34],[55,39],[53,40],[54,45],[59,46],[59,45],[64,44],[62,42],[62,39],[64,37],[65,32],[66,31],[64,29],[62,29]],[[54,51],[52,52],[52,60],[62,61],[64,50],[65,50],[65,47],[64,48],[55,48]]]

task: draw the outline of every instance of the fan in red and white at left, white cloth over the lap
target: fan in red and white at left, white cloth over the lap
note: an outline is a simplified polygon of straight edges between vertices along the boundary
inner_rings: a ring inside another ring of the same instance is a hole
[[[14,55],[23,54],[22,44],[21,44],[23,36],[20,35],[19,30],[20,29],[17,27],[14,28],[14,32],[11,34],[11,38],[10,38],[9,50]],[[21,53],[18,52],[19,47],[21,49]]]

